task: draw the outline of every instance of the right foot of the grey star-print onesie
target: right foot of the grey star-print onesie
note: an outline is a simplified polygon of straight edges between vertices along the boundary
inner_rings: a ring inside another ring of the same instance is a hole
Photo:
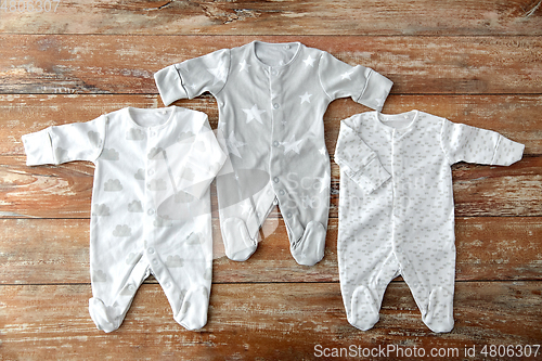
[[[325,228],[322,223],[310,221],[301,238],[292,245],[294,259],[302,266],[314,266],[324,257]]]

